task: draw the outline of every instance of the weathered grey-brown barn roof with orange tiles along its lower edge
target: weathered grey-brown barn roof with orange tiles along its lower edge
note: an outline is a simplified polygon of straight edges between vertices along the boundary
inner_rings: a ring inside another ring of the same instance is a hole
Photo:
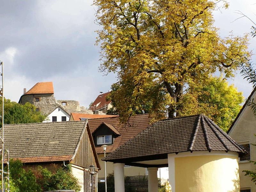
[[[85,121],[4,125],[10,158],[29,162],[71,160]]]

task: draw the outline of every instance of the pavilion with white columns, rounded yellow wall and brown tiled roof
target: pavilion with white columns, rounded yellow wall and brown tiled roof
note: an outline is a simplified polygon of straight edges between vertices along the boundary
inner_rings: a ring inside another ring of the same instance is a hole
[[[239,192],[238,157],[246,153],[203,114],[158,121],[117,148],[115,191],[124,192],[124,165],[148,169],[148,192],[157,192],[157,170],[168,167],[172,192]]]

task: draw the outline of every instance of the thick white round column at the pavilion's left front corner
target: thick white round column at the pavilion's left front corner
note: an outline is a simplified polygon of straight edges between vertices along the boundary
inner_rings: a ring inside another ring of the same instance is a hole
[[[124,164],[114,163],[115,192],[124,192]]]

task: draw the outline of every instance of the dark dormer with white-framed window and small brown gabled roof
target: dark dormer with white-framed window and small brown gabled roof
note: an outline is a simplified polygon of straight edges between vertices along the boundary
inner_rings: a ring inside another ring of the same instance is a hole
[[[112,145],[115,139],[120,135],[121,134],[113,125],[104,122],[92,132],[95,146]]]

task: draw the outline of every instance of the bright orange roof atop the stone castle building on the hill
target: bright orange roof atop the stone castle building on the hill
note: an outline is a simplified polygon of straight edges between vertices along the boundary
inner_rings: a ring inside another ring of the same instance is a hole
[[[27,94],[38,94],[38,93],[54,93],[52,82],[39,82],[36,83],[31,89],[28,90],[24,95]]]

